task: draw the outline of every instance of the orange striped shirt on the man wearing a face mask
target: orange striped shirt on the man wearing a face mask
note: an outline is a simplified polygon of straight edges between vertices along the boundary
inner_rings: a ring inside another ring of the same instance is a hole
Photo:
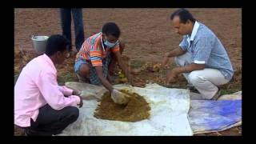
[[[119,42],[113,48],[109,48],[103,44],[102,32],[94,34],[83,42],[81,49],[76,55],[76,61],[79,58],[90,61],[92,66],[102,66],[102,59],[106,58],[108,51],[119,51]]]

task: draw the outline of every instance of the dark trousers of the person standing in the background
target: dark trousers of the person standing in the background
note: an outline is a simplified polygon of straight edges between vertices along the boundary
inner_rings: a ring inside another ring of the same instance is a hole
[[[74,35],[75,35],[75,47],[79,51],[82,43],[85,41],[83,22],[82,22],[82,9],[61,9],[61,23],[62,23],[62,34],[70,40],[69,51],[72,50],[72,39],[71,39],[71,13],[74,20]]]

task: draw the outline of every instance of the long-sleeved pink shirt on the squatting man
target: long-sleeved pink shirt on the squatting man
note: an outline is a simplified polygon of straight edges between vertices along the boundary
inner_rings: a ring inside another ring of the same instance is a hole
[[[80,98],[71,95],[72,92],[66,86],[58,86],[57,70],[46,54],[32,59],[22,69],[14,86],[14,124],[30,126],[30,118],[35,122],[38,109],[47,103],[54,110],[77,106]],[[64,97],[64,94],[70,96]]]

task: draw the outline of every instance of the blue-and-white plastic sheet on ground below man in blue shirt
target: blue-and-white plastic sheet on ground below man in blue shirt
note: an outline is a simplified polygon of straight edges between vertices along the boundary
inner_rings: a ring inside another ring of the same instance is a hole
[[[218,101],[191,100],[190,126],[194,134],[242,125],[242,91],[222,95]]]

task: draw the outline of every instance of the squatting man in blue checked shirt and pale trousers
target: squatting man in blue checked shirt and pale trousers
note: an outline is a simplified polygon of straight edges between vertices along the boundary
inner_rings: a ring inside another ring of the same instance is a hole
[[[201,94],[200,99],[217,100],[221,94],[218,86],[229,82],[234,74],[222,42],[186,9],[176,10],[170,20],[183,39],[178,48],[163,58],[162,66],[172,57],[178,65],[169,71],[166,82],[175,82],[178,74],[183,74],[189,85]]]

